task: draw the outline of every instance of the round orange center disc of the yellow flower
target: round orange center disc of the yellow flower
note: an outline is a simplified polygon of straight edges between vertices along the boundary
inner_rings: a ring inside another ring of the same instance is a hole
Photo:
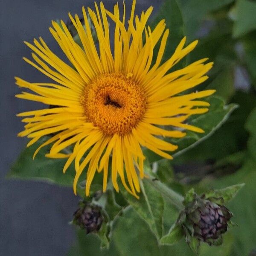
[[[88,121],[106,135],[131,133],[146,110],[143,88],[122,73],[97,76],[85,87],[81,101]]]

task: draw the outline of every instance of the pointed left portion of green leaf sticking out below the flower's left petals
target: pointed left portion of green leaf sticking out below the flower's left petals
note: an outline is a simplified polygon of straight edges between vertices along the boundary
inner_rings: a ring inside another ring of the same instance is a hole
[[[49,153],[50,145],[42,148],[35,160],[33,154],[35,150],[47,139],[44,137],[29,148],[26,148],[18,157],[15,164],[11,167],[11,171],[7,177],[28,179],[28,180],[44,180],[49,183],[55,183],[61,186],[73,186],[75,170],[71,165],[63,174],[63,167],[66,159],[52,159],[45,157]]]

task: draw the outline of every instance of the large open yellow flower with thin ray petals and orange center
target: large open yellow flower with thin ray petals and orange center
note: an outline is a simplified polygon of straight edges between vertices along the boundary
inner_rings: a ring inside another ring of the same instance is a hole
[[[140,178],[144,176],[143,147],[172,159],[166,151],[174,151],[177,146],[164,141],[163,137],[183,137],[185,129],[204,132],[185,121],[193,114],[208,111],[209,103],[194,99],[209,96],[214,90],[179,93],[204,82],[212,62],[204,64],[207,61],[204,58],[170,73],[169,70],[191,52],[198,41],[184,47],[186,38],[183,38],[171,58],[161,64],[169,30],[165,28],[164,20],[153,31],[146,27],[153,8],[134,17],[135,2],[128,28],[125,27],[125,5],[121,20],[117,4],[113,13],[107,11],[103,3],[99,7],[95,4],[96,12],[88,8],[98,47],[94,44],[84,8],[85,29],[78,15],[74,18],[69,14],[81,38],[82,48],[73,40],[63,21],[62,28],[52,21],[53,28],[49,30],[74,68],[58,58],[42,38],[34,40],[34,45],[25,42],[33,51],[34,61],[24,60],[54,83],[29,83],[16,78],[18,86],[34,92],[16,96],[55,107],[18,114],[25,116],[22,121],[27,123],[18,135],[32,138],[29,146],[45,135],[54,134],[38,148],[34,157],[42,147],[53,143],[46,156],[67,157],[64,172],[74,160],[75,193],[78,179],[86,167],[86,195],[89,195],[96,171],[103,171],[105,191],[108,167],[111,166],[116,191],[119,191],[119,175],[125,189],[138,197],[140,181],[137,172]],[[109,18],[115,23],[114,35],[109,32]],[[114,40],[113,54],[111,38]],[[153,61],[153,50],[158,41],[160,48]],[[165,126],[168,129],[164,129]],[[70,145],[73,145],[73,151],[67,154],[64,149]],[[109,163],[110,159],[112,163]]]

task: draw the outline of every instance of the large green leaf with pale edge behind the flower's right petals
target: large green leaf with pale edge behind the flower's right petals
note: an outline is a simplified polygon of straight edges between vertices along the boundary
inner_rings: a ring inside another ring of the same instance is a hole
[[[207,101],[210,103],[209,112],[197,117],[194,116],[189,122],[191,125],[202,128],[205,132],[203,134],[198,134],[192,131],[187,131],[185,137],[171,140],[172,143],[178,145],[177,151],[173,154],[174,157],[183,154],[190,148],[195,147],[210,137],[224,124],[224,122],[227,121],[230,114],[238,107],[236,104],[224,105],[224,101],[217,96],[209,97],[207,98]],[[144,153],[150,162],[155,162],[161,159],[160,156],[148,149],[145,149]]]

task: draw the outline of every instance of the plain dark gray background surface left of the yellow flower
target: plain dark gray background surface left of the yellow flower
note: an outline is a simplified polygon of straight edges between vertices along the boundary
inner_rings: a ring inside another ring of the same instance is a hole
[[[122,1],[119,1],[122,4]],[[156,13],[162,1],[137,0],[139,14],[151,4]],[[112,10],[116,0],[105,0]],[[93,7],[93,0],[2,0],[0,6],[0,255],[61,256],[75,240],[68,225],[79,198],[72,189],[35,181],[6,180],[5,175],[27,140],[17,138],[23,124],[17,113],[36,109],[34,102],[14,97],[20,90],[14,76],[31,82],[46,78],[22,60],[30,57],[23,41],[42,36],[54,52],[60,52],[48,30],[52,19],[68,20],[67,13],[81,15],[81,6]],[[131,0],[126,0],[127,10]],[[153,13],[153,14],[154,14]]]

